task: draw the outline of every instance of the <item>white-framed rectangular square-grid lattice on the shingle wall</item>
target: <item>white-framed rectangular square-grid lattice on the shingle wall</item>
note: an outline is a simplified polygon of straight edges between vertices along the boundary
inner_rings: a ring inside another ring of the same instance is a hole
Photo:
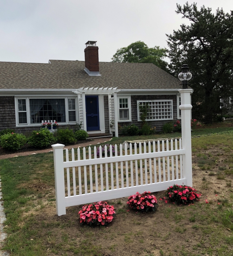
[[[146,121],[172,120],[172,102],[172,100],[138,100],[138,121],[141,121],[141,115],[145,114]]]

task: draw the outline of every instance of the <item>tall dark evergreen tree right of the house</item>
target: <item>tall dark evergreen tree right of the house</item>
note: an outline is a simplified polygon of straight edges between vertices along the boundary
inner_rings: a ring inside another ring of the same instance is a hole
[[[186,2],[177,4],[176,13],[191,24],[167,35],[170,72],[177,76],[182,64],[189,65],[193,116],[211,123],[223,110],[220,98],[233,96],[233,11],[217,9],[213,14],[211,8],[199,11],[195,3]]]

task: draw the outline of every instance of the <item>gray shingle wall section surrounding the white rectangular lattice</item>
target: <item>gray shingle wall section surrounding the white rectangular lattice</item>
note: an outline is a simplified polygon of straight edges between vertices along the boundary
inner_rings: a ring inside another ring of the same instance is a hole
[[[173,121],[177,120],[177,96],[176,95],[137,95],[131,96],[131,118],[132,122],[120,122],[121,126],[135,124],[141,129],[142,122],[138,122],[137,113],[137,100],[173,100]],[[171,122],[172,120],[158,120],[158,121],[148,121],[151,127],[156,127],[157,132],[163,130],[163,125],[165,123]],[[119,133],[121,131],[119,130]]]

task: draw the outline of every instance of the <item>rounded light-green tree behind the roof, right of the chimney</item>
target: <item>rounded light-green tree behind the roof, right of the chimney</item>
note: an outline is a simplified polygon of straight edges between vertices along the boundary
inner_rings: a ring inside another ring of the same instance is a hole
[[[163,60],[166,57],[167,50],[155,46],[148,48],[148,46],[142,42],[137,41],[130,44],[127,47],[123,47],[117,50],[113,55],[113,62],[133,62],[133,63],[153,63],[156,66],[167,71],[167,62]]]

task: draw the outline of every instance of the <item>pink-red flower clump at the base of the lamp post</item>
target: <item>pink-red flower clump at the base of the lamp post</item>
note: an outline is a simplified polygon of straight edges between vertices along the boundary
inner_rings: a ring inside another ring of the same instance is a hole
[[[167,189],[166,196],[171,202],[178,204],[194,203],[201,196],[196,191],[196,189],[185,185],[174,185]]]

